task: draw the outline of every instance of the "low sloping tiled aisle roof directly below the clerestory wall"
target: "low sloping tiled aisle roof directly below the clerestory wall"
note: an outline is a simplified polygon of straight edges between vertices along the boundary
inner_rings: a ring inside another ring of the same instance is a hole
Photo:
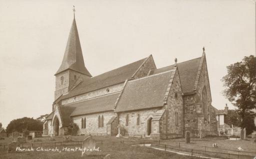
[[[82,102],[69,104],[63,107],[73,107],[74,111],[70,116],[78,116],[97,112],[111,111],[119,93],[105,95],[97,98],[88,99]]]

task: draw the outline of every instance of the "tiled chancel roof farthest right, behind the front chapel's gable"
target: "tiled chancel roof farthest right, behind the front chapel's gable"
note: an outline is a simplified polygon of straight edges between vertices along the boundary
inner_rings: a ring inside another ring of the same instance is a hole
[[[177,63],[177,68],[179,72],[179,78],[180,78],[183,93],[193,92],[195,79],[196,79],[198,67],[200,64],[200,59],[201,57],[198,57],[192,60]],[[173,68],[174,68],[174,65],[166,66],[163,68],[153,70],[151,71],[150,74],[152,75],[160,72],[165,72]]]

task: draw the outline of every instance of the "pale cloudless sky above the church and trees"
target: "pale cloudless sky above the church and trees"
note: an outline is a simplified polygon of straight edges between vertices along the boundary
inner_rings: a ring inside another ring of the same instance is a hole
[[[212,105],[226,66],[255,55],[255,0],[0,0],[0,122],[51,112],[73,19],[92,76],[152,54],[157,68],[202,55]]]

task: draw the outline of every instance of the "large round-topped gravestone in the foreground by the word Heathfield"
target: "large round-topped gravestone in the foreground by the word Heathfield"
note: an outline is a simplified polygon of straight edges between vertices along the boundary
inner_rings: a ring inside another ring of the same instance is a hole
[[[95,149],[96,141],[92,139],[92,136],[87,136],[82,142],[82,156],[93,155],[94,152],[88,151],[89,149]]]

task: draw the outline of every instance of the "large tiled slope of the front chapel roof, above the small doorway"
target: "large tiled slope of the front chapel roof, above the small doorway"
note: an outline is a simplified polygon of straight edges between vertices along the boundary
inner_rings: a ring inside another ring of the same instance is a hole
[[[164,95],[172,71],[128,81],[116,105],[115,112],[163,106]]]

